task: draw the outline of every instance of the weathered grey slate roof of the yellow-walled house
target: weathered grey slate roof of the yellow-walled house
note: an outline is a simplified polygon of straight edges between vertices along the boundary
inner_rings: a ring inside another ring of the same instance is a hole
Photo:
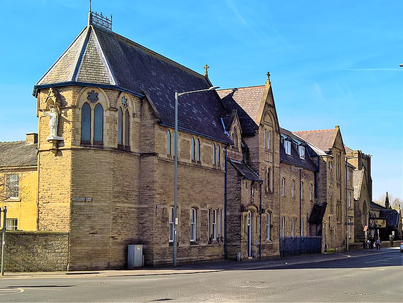
[[[0,142],[0,167],[36,166],[37,148],[38,143],[25,145],[25,141]],[[3,161],[5,163],[2,163]]]

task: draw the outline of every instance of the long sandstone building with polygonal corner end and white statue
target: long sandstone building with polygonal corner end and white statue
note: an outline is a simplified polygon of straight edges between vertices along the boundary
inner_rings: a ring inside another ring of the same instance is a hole
[[[175,229],[178,263],[278,256],[286,237],[321,236],[323,250],[342,247],[347,231],[354,241],[344,211],[354,167],[346,175],[338,127],[281,129],[269,74],[265,85],[214,91],[207,68],[190,70],[90,13],[34,86],[29,212],[35,230],[68,233],[68,270],[124,268],[129,244],[144,245],[145,265],[171,264]],[[176,92],[193,93],[179,96],[175,218]]]

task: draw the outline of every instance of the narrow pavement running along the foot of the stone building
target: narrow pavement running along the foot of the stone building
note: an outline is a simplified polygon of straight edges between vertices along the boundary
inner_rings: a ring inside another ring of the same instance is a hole
[[[142,267],[136,269],[122,270],[99,270],[99,271],[63,271],[63,272],[6,272],[0,279],[28,279],[28,278],[93,278],[93,277],[125,277],[125,276],[155,276],[155,275],[175,275],[175,274],[196,274],[219,271],[251,270],[259,268],[279,267],[284,265],[296,265],[312,262],[323,262],[344,258],[365,257],[375,254],[386,254],[387,252],[398,250],[399,247],[384,247],[380,250],[364,249],[353,251],[340,251],[332,254],[303,255],[292,257],[275,257],[269,259],[252,259],[242,262],[222,260],[197,262],[192,264],[181,264],[176,268],[172,267]]]

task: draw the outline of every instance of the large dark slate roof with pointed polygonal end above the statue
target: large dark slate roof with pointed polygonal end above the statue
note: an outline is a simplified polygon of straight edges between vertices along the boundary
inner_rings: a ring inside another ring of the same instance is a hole
[[[89,25],[73,41],[34,87],[100,86],[137,94],[144,91],[155,106],[160,123],[175,126],[175,91],[207,89],[210,81],[185,66],[98,25]],[[148,97],[147,97],[148,98]],[[180,130],[231,142],[221,116],[227,115],[214,91],[179,97]]]

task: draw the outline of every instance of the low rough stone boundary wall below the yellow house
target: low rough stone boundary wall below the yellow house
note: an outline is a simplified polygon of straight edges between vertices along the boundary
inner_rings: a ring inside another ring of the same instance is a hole
[[[67,232],[7,231],[5,272],[67,271],[68,251]]]

